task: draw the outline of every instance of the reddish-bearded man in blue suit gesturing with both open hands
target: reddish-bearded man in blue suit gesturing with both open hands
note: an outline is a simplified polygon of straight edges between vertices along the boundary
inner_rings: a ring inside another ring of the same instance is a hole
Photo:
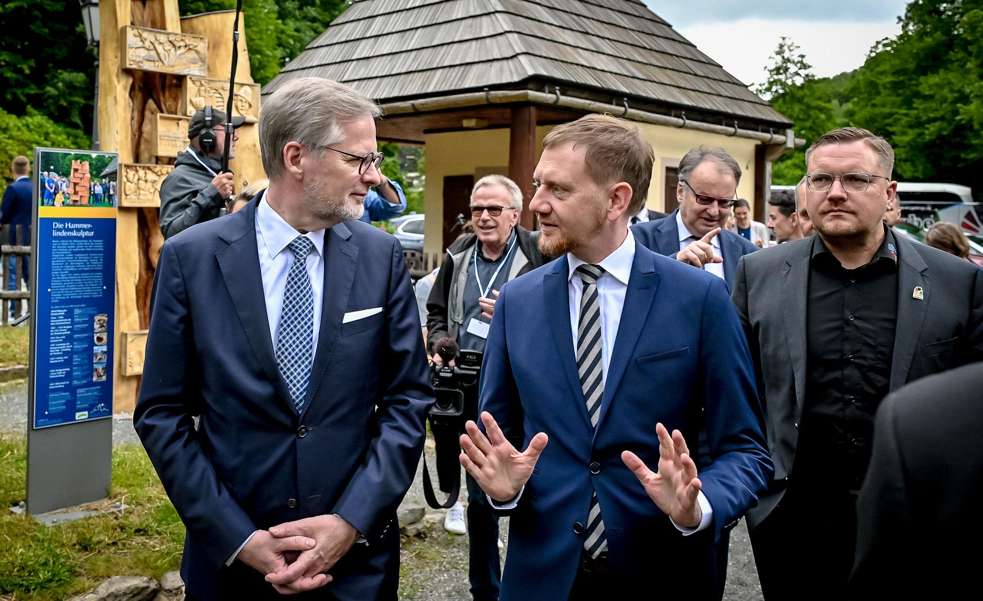
[[[643,578],[716,597],[714,544],[772,473],[726,285],[628,231],[654,160],[636,128],[589,115],[543,146],[530,208],[559,258],[502,287],[484,432],[461,437],[461,464],[511,515],[499,599],[627,598]]]

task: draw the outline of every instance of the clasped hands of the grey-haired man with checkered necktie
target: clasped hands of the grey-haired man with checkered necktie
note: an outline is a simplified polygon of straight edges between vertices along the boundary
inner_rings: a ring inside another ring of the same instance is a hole
[[[352,524],[338,516],[316,516],[258,530],[237,559],[266,574],[280,594],[314,590],[331,581],[324,574],[358,537]]]

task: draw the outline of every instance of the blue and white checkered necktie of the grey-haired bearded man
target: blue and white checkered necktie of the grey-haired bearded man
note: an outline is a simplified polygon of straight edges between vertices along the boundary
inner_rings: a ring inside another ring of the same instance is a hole
[[[314,243],[305,236],[298,236],[290,243],[294,262],[287,272],[276,334],[276,366],[287,382],[290,400],[298,413],[304,409],[314,357],[314,291],[307,273],[307,255],[313,247]]]

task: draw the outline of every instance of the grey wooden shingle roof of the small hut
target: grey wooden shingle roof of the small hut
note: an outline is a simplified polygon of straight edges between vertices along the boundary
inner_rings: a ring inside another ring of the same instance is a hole
[[[361,0],[262,92],[310,76],[382,103],[549,82],[789,125],[641,0]]]

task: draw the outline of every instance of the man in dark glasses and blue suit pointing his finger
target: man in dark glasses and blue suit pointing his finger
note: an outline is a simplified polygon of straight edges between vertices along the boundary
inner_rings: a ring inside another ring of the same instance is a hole
[[[725,228],[736,202],[741,169],[723,148],[694,148],[679,161],[679,208],[631,227],[650,250],[716,275],[733,290],[737,261],[758,246]]]

